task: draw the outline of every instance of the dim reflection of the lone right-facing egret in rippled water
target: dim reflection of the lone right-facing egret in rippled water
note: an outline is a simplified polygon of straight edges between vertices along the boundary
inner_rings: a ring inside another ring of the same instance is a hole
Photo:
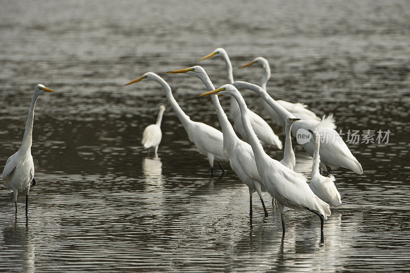
[[[34,272],[34,242],[31,238],[28,218],[26,217],[26,225],[17,224],[17,216],[14,223],[3,228],[3,247],[10,253],[10,256],[15,256],[13,259],[16,268],[21,268],[24,272]],[[18,250],[18,251],[17,251]],[[3,268],[5,269],[5,268]],[[20,271],[20,270],[18,270]]]

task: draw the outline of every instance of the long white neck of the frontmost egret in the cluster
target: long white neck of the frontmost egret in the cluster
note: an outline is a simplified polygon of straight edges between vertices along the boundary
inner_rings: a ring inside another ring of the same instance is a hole
[[[245,103],[239,92],[235,92],[233,94],[233,97],[238,102],[239,111],[243,123],[243,129],[245,130],[245,133],[247,133],[249,143],[251,144],[252,151],[255,155],[256,165],[258,166],[259,170],[259,167],[263,168],[266,165],[266,162],[264,160],[264,156],[266,156],[266,153],[265,151],[263,151],[262,144],[260,144],[258,137],[252,129],[251,121],[248,117],[247,104]]]

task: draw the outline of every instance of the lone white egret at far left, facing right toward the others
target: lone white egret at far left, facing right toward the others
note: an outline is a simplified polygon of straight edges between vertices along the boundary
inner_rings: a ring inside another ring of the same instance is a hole
[[[54,92],[46,88],[44,85],[37,85],[34,89],[33,98],[31,99],[31,106],[29,116],[26,122],[26,129],[24,130],[23,141],[20,149],[9,157],[6,161],[6,166],[3,170],[3,183],[9,188],[14,195],[14,203],[17,214],[17,195],[22,193],[26,195],[26,214],[28,210],[28,194],[30,191],[30,183],[34,180],[34,162],[31,156],[31,144],[33,140],[33,121],[35,102],[39,95],[44,92]]]

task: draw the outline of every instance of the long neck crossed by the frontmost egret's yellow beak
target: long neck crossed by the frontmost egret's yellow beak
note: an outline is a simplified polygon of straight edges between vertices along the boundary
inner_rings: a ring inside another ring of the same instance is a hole
[[[202,80],[204,85],[207,87],[208,91],[215,90],[215,87],[207,73],[201,74],[199,78]],[[235,134],[235,131],[232,128],[232,124],[229,122],[227,115],[223,111],[222,106],[219,102],[218,96],[212,95],[211,97],[212,97],[212,102],[214,103],[216,114],[218,115],[219,123],[221,124],[222,134],[223,134],[223,145],[224,147],[228,147],[227,146],[228,140],[238,139],[238,136]]]

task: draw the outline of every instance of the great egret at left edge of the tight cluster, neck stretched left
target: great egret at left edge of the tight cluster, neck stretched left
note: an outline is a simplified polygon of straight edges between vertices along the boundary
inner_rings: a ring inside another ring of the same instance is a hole
[[[181,121],[183,128],[185,128],[189,139],[194,142],[199,153],[208,157],[209,164],[211,165],[211,177],[214,173],[214,160],[216,160],[224,173],[225,171],[219,161],[228,161],[229,158],[228,155],[223,152],[222,133],[205,123],[192,121],[190,117],[179,107],[178,102],[172,95],[171,88],[168,83],[155,73],[147,72],[141,77],[128,82],[126,86],[142,79],[154,80],[162,86],[172,109],[177,115],[179,121]]]

